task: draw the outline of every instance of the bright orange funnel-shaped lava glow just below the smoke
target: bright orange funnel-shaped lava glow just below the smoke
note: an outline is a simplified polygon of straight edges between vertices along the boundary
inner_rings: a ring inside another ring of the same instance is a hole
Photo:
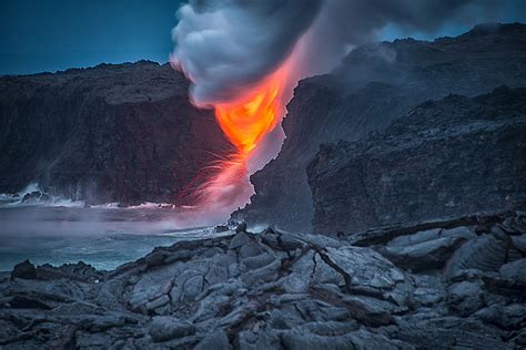
[[[283,112],[282,94],[286,75],[284,64],[236,102],[215,106],[218,123],[237,147],[240,157],[247,156],[279,122]]]

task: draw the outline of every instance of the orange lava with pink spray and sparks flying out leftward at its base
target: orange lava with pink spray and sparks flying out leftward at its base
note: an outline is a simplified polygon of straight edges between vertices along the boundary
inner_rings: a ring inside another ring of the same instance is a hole
[[[257,145],[274,130],[285,112],[285,101],[292,95],[293,73],[291,60],[251,87],[234,102],[215,104],[215,119],[235,146],[229,157],[203,168],[178,203],[188,209],[185,219],[220,218],[224,220],[237,207],[244,206],[253,194],[249,181],[249,159],[256,153]],[[194,183],[204,183],[194,187]],[[203,215],[204,214],[204,215]]]

